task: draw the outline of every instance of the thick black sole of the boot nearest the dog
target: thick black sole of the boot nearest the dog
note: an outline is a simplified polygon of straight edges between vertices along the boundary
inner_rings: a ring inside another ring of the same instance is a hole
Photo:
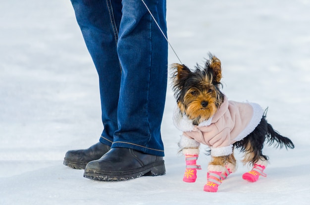
[[[166,173],[164,160],[148,164],[145,167],[129,171],[100,171],[85,169],[84,177],[98,181],[122,181],[141,176],[159,176]]]

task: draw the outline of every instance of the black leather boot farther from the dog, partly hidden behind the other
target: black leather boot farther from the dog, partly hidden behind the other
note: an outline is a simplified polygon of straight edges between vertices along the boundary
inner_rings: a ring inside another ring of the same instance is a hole
[[[66,153],[63,164],[74,169],[85,169],[88,162],[99,159],[110,150],[110,146],[99,142],[85,150],[70,150]]]

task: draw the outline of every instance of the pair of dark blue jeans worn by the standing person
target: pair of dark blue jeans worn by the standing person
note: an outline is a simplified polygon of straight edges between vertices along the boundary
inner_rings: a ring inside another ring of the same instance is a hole
[[[163,156],[168,45],[141,0],[71,0],[97,72],[100,142]],[[166,1],[145,0],[166,35]]]

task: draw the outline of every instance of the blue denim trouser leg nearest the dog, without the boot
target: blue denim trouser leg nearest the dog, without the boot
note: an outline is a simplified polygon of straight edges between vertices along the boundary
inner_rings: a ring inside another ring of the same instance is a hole
[[[165,0],[145,2],[166,33]],[[123,71],[119,129],[111,148],[131,148],[163,156],[160,125],[167,88],[167,41],[141,0],[123,0],[122,3],[117,43]]]

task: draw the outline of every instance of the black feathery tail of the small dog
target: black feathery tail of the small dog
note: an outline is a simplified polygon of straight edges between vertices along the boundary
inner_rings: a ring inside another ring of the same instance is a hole
[[[266,133],[266,143],[269,145],[274,145],[275,148],[290,148],[294,149],[295,145],[293,142],[287,138],[280,135],[277,131],[275,131],[272,126],[267,123],[267,133]]]

